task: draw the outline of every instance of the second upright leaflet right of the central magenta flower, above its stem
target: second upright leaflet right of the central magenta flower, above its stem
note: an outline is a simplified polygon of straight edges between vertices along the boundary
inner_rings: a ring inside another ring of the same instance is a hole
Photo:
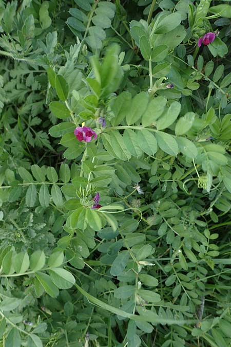
[[[131,107],[126,115],[128,125],[136,123],[145,112],[148,105],[148,94],[141,92],[137,94],[131,102]]]

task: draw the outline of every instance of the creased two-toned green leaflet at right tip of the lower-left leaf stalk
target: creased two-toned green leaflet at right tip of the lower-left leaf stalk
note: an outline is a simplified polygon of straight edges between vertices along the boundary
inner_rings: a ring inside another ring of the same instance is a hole
[[[65,269],[52,268],[49,270],[49,274],[52,282],[60,289],[71,288],[75,283],[73,275]]]

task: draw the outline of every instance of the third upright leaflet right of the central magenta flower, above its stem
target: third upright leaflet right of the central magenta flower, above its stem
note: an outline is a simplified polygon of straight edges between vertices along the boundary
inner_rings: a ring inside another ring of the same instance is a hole
[[[142,125],[148,126],[155,122],[164,112],[167,100],[162,96],[152,99],[142,117]]]

